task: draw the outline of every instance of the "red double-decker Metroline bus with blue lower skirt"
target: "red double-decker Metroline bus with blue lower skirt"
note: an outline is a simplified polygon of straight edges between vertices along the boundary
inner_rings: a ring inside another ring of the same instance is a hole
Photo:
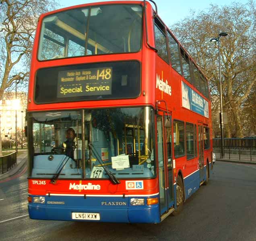
[[[160,223],[213,169],[208,82],[146,1],[39,18],[27,108],[31,219]]]

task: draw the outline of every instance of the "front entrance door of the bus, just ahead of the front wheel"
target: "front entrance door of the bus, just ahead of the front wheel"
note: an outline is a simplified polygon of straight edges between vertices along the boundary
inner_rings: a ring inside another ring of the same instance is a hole
[[[172,158],[171,158],[171,137],[167,141],[167,131],[171,133],[171,127],[164,127],[162,115],[157,116],[157,147],[158,147],[158,176],[160,212],[163,214],[173,206],[173,179],[172,179]],[[168,151],[168,149],[169,151]],[[167,154],[169,153],[169,154]],[[168,157],[168,158],[167,158]],[[169,160],[168,160],[169,159]]]

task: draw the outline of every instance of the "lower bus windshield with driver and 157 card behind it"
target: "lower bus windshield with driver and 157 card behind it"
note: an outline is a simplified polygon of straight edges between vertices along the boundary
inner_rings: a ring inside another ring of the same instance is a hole
[[[33,178],[52,178],[62,163],[60,178],[108,178],[102,165],[119,179],[155,176],[150,107],[37,112],[30,119]]]

